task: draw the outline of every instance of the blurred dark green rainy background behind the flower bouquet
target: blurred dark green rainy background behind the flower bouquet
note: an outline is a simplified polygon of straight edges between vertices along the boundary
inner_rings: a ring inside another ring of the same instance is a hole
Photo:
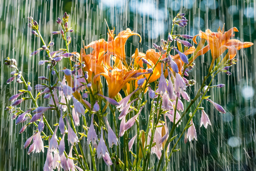
[[[139,1],[139,0],[107,0],[107,1],[7,1],[0,0],[0,55],[1,55],[1,97],[0,97],[0,170],[42,170],[46,153],[27,155],[23,149],[26,139],[31,136],[32,128],[19,135],[23,125],[15,125],[5,107],[10,105],[10,96],[17,93],[17,83],[6,84],[10,78],[10,68],[3,65],[7,56],[15,58],[25,79],[32,86],[38,83],[36,79],[45,73],[44,67],[38,67],[38,61],[46,59],[41,52],[30,57],[29,54],[42,46],[40,40],[31,34],[27,26],[27,17],[32,16],[39,23],[40,31],[46,42],[55,43],[54,50],[63,47],[63,41],[51,31],[58,31],[58,17],[62,18],[64,11],[70,14],[69,25],[74,29],[70,34],[72,43],[70,51],[80,51],[83,41],[88,44],[94,40],[107,39],[107,21],[109,28],[115,27],[117,35],[125,28],[139,33],[139,37],[128,39],[127,60],[138,47],[145,52],[152,48],[152,43],[160,44],[167,39],[172,19],[181,11],[189,20],[185,28],[177,28],[182,34],[196,35],[200,30],[210,28],[217,31],[219,27],[225,30],[237,27],[236,39],[255,44],[256,10],[255,1]],[[218,113],[210,103],[204,102],[212,126],[200,128],[198,112],[193,120],[196,124],[197,139],[179,148],[181,152],[173,155],[169,170],[255,170],[256,166],[256,133],[255,133],[255,46],[240,50],[237,54],[239,62],[231,67],[232,75],[220,74],[214,84],[226,84],[224,88],[211,90],[212,100],[224,106],[227,113]],[[200,86],[209,67],[210,53],[197,59],[196,67],[190,72],[190,79],[195,79]],[[194,88],[189,88],[191,96]],[[34,92],[36,93],[36,92]],[[42,101],[41,103],[44,103]],[[25,105],[31,104],[23,104]],[[186,104],[185,104],[186,105]],[[192,107],[192,111],[193,111]],[[144,113],[145,114],[145,113]],[[141,121],[145,118],[141,116]],[[177,132],[178,133],[178,132]],[[131,137],[131,136],[130,136]],[[152,155],[151,165],[156,160]]]

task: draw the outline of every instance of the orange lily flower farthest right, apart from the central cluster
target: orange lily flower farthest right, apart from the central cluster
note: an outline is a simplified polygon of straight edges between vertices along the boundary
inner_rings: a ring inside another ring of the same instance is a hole
[[[238,32],[236,27],[230,28],[230,30],[224,32],[219,28],[218,32],[212,32],[209,29],[205,32],[200,31],[199,36],[202,39],[206,39],[210,46],[213,60],[216,60],[224,53],[225,50],[229,50],[229,58],[233,59],[237,55],[237,50],[241,48],[247,48],[253,45],[251,42],[241,42],[237,39],[230,39],[234,36],[234,31]],[[196,35],[197,36],[197,35]],[[195,37],[196,37],[195,36]],[[194,38],[193,40],[195,40]],[[196,43],[196,42],[195,42]]]

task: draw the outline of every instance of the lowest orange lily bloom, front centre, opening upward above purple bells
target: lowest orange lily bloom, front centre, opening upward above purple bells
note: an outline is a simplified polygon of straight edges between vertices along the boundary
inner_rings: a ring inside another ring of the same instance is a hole
[[[96,79],[102,75],[107,80],[108,83],[108,96],[113,98],[119,93],[119,91],[131,80],[136,80],[136,78],[132,78],[134,74],[140,72],[140,70],[131,70],[125,71],[120,70],[118,68],[114,68],[111,72],[108,73],[103,72],[94,76],[94,82]]]

